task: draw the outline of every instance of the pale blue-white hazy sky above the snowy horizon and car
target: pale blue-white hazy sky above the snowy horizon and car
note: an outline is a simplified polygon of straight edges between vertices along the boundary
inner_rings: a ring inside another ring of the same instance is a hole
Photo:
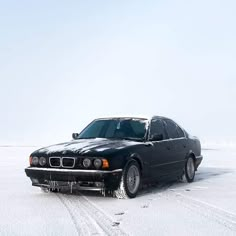
[[[0,0],[0,144],[163,115],[236,137],[236,1]]]

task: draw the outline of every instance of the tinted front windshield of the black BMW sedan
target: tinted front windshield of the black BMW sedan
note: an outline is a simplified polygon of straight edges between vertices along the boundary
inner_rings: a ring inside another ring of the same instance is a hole
[[[117,118],[95,120],[79,135],[79,139],[115,138],[143,140],[146,134],[147,120]]]

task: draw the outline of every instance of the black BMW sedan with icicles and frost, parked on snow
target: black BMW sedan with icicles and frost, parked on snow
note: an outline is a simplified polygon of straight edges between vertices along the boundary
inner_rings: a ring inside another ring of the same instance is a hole
[[[25,172],[33,186],[49,191],[67,186],[133,198],[141,183],[192,182],[201,161],[198,138],[173,120],[116,117],[96,119],[72,141],[33,152]]]

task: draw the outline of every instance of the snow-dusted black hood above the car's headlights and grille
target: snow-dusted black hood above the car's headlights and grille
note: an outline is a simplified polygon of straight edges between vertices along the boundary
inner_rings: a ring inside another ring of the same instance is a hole
[[[109,140],[103,138],[72,140],[45,148],[32,155],[104,155],[117,152],[130,146],[140,145],[140,142],[129,140]]]

